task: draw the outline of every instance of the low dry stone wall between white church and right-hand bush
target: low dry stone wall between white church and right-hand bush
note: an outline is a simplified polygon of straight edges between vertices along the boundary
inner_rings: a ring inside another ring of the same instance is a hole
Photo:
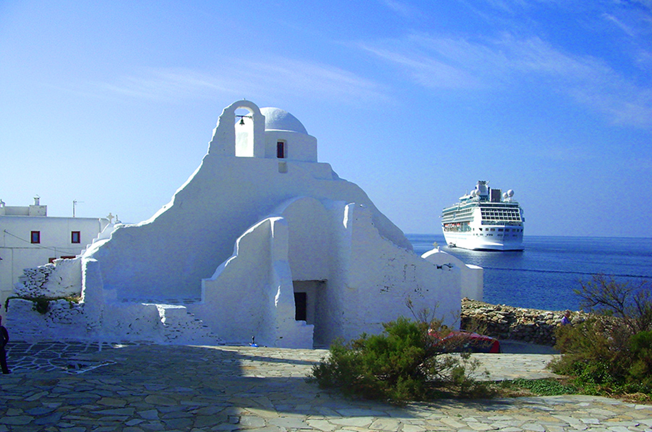
[[[555,328],[561,326],[562,316],[563,311],[524,309],[463,298],[460,326],[497,339],[553,346]],[[580,311],[573,311],[571,315],[572,322],[581,322],[586,317],[587,314]]]

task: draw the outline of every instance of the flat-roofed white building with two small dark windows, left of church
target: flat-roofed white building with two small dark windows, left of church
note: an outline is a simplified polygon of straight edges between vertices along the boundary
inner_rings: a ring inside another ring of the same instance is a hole
[[[0,313],[23,269],[74,258],[108,225],[108,219],[48,217],[38,197],[30,206],[0,200]]]

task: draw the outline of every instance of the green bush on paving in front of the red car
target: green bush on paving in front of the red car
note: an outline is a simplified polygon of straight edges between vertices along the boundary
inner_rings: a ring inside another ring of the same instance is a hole
[[[454,385],[461,394],[484,388],[469,372],[477,367],[469,356],[443,355],[436,348],[433,328],[441,322],[412,322],[404,317],[384,324],[382,335],[366,335],[349,344],[336,341],[330,355],[312,369],[320,387],[337,388],[348,395],[404,403],[432,397],[434,383]]]

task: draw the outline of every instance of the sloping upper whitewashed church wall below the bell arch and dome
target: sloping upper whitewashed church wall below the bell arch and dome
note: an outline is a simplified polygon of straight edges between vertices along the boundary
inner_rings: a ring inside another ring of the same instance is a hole
[[[279,173],[275,159],[205,156],[164,211],[142,224],[117,228],[106,248],[96,252],[104,284],[117,289],[121,299],[198,300],[201,280],[231,256],[242,232],[299,196],[365,204],[373,208],[374,224],[384,237],[411,248],[362,189],[339,179],[329,166],[321,167],[327,164],[286,164],[288,172]]]

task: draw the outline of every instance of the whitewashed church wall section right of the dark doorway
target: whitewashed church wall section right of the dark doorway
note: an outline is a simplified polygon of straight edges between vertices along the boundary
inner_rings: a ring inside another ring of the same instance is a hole
[[[460,286],[456,271],[436,269],[411,250],[397,247],[378,235],[371,209],[360,204],[345,207],[346,230],[340,235],[338,269],[342,289],[331,292],[325,335],[351,339],[365,331],[378,333],[382,323],[399,316],[411,317],[428,309],[454,324],[459,314]],[[348,245],[347,245],[348,243]]]

